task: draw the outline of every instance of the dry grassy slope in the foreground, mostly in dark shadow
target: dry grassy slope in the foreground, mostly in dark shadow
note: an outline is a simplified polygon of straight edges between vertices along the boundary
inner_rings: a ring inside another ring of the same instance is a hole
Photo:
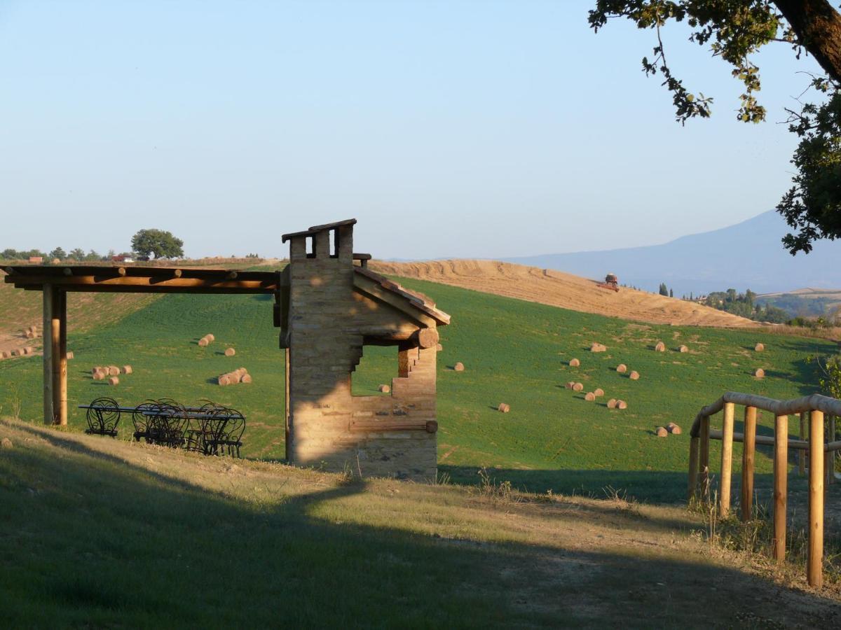
[[[8,627],[830,627],[685,510],[343,483],[0,421]],[[837,593],[835,594],[837,596]],[[711,606],[711,602],[716,602]],[[773,620],[771,622],[770,620]]]

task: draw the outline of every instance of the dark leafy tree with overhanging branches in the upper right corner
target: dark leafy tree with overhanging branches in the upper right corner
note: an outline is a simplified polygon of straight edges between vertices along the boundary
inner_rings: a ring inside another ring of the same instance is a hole
[[[800,111],[786,110],[800,144],[791,159],[794,186],[776,210],[794,230],[782,239],[791,255],[808,254],[818,239],[841,238],[841,14],[828,0],[597,0],[590,26],[598,31],[610,18],[653,29],[653,58],[643,57],[643,71],[663,76],[680,123],[708,118],[712,98],[701,92],[696,97],[672,73],[662,36],[669,20],[685,21],[692,29],[691,42],[709,44],[713,56],[733,66],[733,76],[744,86],[738,118],[746,123],[765,119],[756,98],[759,66],[751,55],[772,42],[791,45],[798,58],[803,50],[811,54],[826,73],[811,81],[822,102],[801,102]]]

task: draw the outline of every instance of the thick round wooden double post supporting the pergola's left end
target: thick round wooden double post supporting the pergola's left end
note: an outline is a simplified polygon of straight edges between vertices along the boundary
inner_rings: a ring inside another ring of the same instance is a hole
[[[67,293],[44,285],[44,423],[67,424]]]

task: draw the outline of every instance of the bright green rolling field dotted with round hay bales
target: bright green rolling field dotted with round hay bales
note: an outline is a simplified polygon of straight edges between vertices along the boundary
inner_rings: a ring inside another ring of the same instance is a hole
[[[688,430],[701,406],[726,390],[775,398],[813,393],[817,375],[807,356],[835,350],[821,339],[629,323],[423,281],[401,283],[430,295],[452,315],[452,324],[441,329],[439,463],[442,473],[459,482],[475,482],[476,471],[487,466],[497,479],[528,491],[600,495],[612,486],[648,501],[680,501]],[[71,428],[84,428],[76,406],[97,396],[126,404],[163,396],[188,403],[210,399],[248,417],[246,457],[282,459],[283,352],[271,309],[271,299],[262,296],[167,296],[119,322],[72,333]],[[196,341],[211,332],[216,342],[199,348]],[[667,352],[653,351],[658,340]],[[590,353],[595,341],[607,351]],[[754,352],[758,341],[763,353]],[[690,352],[675,351],[679,344]],[[221,354],[229,345],[235,357]],[[567,365],[573,357],[581,360],[579,368]],[[450,369],[457,361],[466,365],[464,372]],[[617,374],[619,363],[637,370],[640,380]],[[103,364],[130,364],[134,374],[110,387],[89,374]],[[214,384],[215,376],[240,366],[253,383]],[[763,380],[752,375],[757,367],[766,371]],[[372,394],[396,372],[396,351],[366,349],[354,391]],[[564,389],[572,380],[583,382],[584,391],[601,387],[606,396],[585,402],[584,392]],[[0,362],[0,414],[19,406],[20,417],[39,422],[40,391],[40,358]],[[627,410],[608,409],[611,397],[626,400]],[[495,411],[500,402],[509,403],[511,412]],[[769,414],[760,417],[761,430],[770,433],[772,421]],[[684,433],[655,437],[653,429],[669,422]],[[123,428],[128,438],[129,427]],[[770,472],[768,455],[758,458],[760,483]]]

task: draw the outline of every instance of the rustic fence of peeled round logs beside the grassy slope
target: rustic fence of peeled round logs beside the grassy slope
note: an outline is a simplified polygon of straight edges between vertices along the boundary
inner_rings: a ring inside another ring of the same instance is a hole
[[[744,433],[733,430],[735,407],[744,409]],[[762,409],[775,416],[774,437],[756,434],[756,412]],[[710,428],[710,417],[723,410],[722,429]],[[829,442],[824,444],[824,414],[829,420]],[[790,415],[800,419],[800,439],[789,438]],[[809,549],[807,580],[820,588],[823,582],[823,494],[824,483],[835,482],[835,453],[841,441],[835,440],[835,417],[841,416],[841,401],[815,394],[789,401],[727,391],[707,405],[695,418],[690,430],[689,488],[690,500],[710,496],[710,440],[722,441],[722,473],[718,486],[718,512],[730,512],[730,484],[733,470],[733,442],[742,442],[741,518],[751,517],[754,490],[754,454],[756,444],[774,447],[774,557],[785,558],[785,517],[788,502],[788,450],[798,451],[801,475],[809,469]],[[806,425],[808,423],[808,425]],[[804,429],[808,426],[808,435]],[[806,460],[808,459],[808,466]]]

